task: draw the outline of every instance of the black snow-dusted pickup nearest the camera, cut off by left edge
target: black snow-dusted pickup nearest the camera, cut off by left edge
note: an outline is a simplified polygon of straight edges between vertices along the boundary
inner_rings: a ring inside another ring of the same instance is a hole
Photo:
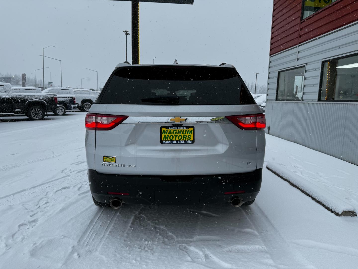
[[[57,96],[42,93],[12,93],[11,84],[0,83],[0,115],[24,114],[39,120],[58,109]]]

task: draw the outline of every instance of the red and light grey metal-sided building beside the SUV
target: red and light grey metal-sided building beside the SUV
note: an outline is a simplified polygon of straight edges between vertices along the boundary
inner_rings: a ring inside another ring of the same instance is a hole
[[[274,0],[266,121],[358,165],[358,0]]]

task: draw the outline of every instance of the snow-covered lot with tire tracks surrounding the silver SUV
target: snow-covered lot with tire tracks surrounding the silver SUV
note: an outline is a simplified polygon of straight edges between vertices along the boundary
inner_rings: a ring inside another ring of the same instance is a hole
[[[96,207],[83,120],[0,122],[0,268],[357,268],[358,218],[267,169],[246,208]],[[267,142],[271,161],[280,140]]]

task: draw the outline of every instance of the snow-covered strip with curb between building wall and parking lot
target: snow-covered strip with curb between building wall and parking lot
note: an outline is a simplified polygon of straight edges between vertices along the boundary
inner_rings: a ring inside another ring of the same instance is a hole
[[[270,135],[266,143],[267,169],[337,216],[357,216],[358,166]]]

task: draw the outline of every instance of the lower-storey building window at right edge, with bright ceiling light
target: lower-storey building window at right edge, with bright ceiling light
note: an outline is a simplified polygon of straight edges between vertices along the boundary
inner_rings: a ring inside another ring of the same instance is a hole
[[[323,62],[321,101],[358,101],[358,55]]]

